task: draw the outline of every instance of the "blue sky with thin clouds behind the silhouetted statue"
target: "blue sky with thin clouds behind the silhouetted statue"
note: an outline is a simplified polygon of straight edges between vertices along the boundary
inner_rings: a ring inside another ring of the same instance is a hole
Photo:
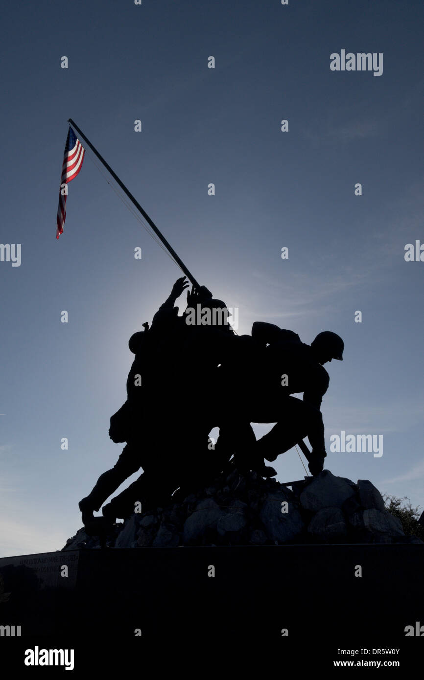
[[[267,321],[305,343],[342,336],[325,467],[422,509],[424,262],[405,246],[424,243],[423,20],[414,0],[7,7],[0,242],[20,243],[21,261],[0,262],[0,556],[61,549],[82,526],[78,500],[122,449],[108,428],[129,337],[182,274],[90,150],[56,240],[68,118],[238,307],[239,334]],[[331,70],[342,50],[382,54],[382,74]],[[342,431],[382,435],[382,456],[330,452]],[[305,474],[295,449],[274,466],[279,481]]]

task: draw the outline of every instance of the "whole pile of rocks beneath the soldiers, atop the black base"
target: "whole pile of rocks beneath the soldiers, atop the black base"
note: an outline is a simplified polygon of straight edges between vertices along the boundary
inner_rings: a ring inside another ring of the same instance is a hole
[[[233,470],[212,486],[166,508],[135,513],[115,524],[105,545],[117,548],[179,545],[310,543],[423,543],[406,536],[367,479],[357,483],[323,470],[287,486],[257,473]],[[100,547],[84,528],[63,550]]]

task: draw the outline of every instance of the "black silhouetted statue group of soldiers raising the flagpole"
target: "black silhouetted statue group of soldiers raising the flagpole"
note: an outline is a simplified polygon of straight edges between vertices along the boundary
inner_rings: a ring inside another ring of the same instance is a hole
[[[262,322],[253,324],[251,336],[235,335],[225,303],[205,286],[187,292],[186,309],[178,316],[175,303],[188,286],[185,277],[178,279],[152,326],[143,324],[129,340],[135,357],[127,401],[112,415],[109,430],[112,441],[126,445],[80,501],[88,532],[104,530],[93,511],[140,468],[142,475],[103,506],[107,524],[131,515],[137,501],[144,511],[164,507],[177,488],[189,494],[231,465],[274,476],[264,459],[275,460],[304,437],[312,445],[310,472],[323,469],[319,409],[329,384],[323,364],[342,359],[342,339],[326,331],[305,345],[293,331]],[[304,401],[291,396],[296,392],[304,392]],[[257,441],[251,422],[276,425]],[[182,441],[174,443],[182,426]],[[214,427],[219,437],[211,445]]]

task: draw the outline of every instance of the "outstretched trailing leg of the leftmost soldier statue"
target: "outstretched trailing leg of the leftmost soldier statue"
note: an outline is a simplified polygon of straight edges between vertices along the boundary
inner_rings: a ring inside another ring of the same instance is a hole
[[[113,494],[118,486],[137,472],[140,467],[140,448],[133,444],[127,444],[114,467],[100,475],[93,490],[88,496],[80,500],[79,507],[83,515],[83,522],[84,519],[93,514],[94,510],[99,511],[106,498],[109,498],[110,494]]]

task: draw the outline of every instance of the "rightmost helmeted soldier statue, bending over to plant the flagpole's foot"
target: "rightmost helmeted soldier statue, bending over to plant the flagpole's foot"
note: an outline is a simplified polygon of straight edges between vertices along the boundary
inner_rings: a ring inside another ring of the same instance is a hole
[[[257,456],[276,460],[299,439],[308,437],[312,446],[309,469],[316,475],[323,469],[325,452],[324,426],[320,407],[329,386],[329,375],[323,364],[342,360],[344,343],[331,331],[316,336],[311,345],[301,343],[299,336],[274,326],[257,323],[252,338],[263,349],[253,377],[254,390],[244,408],[252,422],[276,422],[272,430],[257,442]],[[304,393],[304,401],[289,396]]]

